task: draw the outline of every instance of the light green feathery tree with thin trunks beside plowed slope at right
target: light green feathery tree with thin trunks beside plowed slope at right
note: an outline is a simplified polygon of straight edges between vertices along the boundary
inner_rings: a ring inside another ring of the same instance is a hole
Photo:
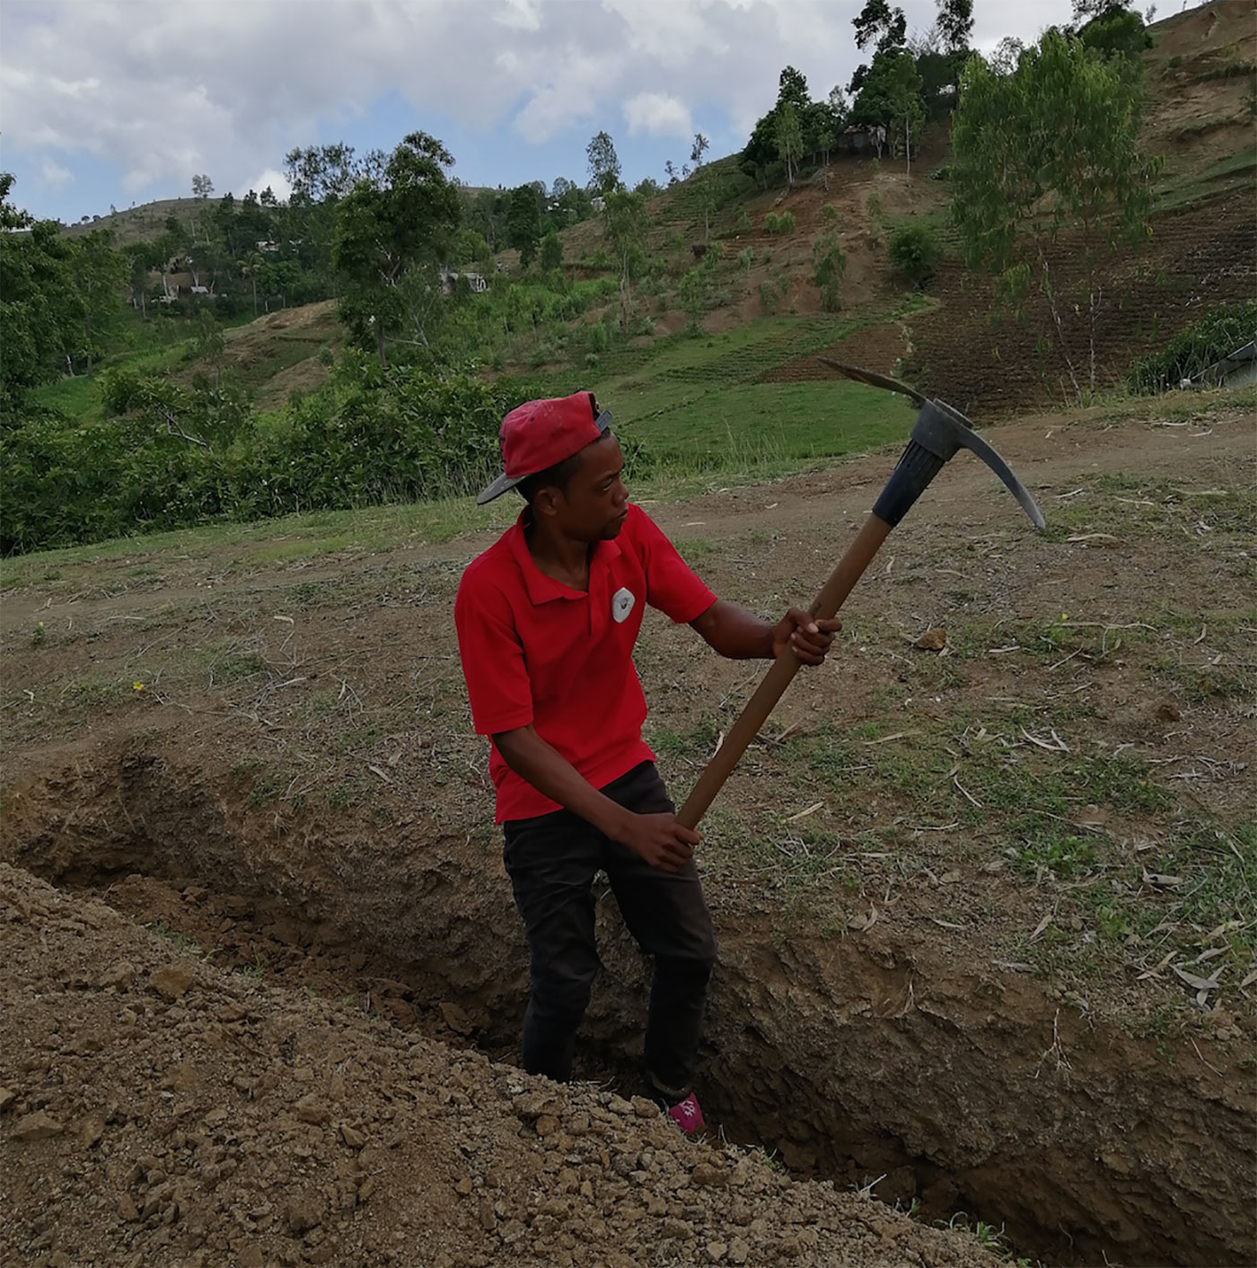
[[[953,118],[951,214],[968,261],[991,269],[1016,304],[1038,284],[1079,401],[1065,316],[1077,306],[1084,323],[1093,398],[1101,268],[1147,233],[1161,164],[1139,152],[1140,105],[1129,76],[1078,39],[1048,30],[1008,72],[973,57]],[[1077,297],[1058,289],[1049,259],[1065,233],[1083,265]]]

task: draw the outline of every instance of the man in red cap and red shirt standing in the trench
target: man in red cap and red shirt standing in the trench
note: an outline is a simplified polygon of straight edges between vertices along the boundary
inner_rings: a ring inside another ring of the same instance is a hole
[[[531,957],[524,1068],[566,1082],[597,971],[594,874],[655,956],[646,1080],[686,1131],[703,1129],[694,1073],[715,938],[694,866],[642,742],[633,645],[647,604],[727,657],[819,664],[838,629],[791,609],[778,624],[715,597],[628,501],[609,412],[589,392],[530,401],[501,427],[502,474],[525,507],[463,573],[454,605],[472,719],[490,773]]]

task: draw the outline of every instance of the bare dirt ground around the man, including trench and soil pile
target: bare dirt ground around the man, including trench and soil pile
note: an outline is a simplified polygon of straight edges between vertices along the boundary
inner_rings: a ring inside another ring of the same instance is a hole
[[[991,437],[1048,531],[958,458],[701,852],[714,1130],[916,1225],[490,1065],[526,966],[449,614],[492,534],[326,517],[0,573],[4,1254],[941,1264],[984,1252],[931,1221],[980,1220],[1049,1262],[1252,1262],[1252,412]],[[892,460],[648,508],[778,611]],[[759,668],[662,621],[638,659],[682,794]],[[600,922],[583,1073],[630,1098],[643,965]]]

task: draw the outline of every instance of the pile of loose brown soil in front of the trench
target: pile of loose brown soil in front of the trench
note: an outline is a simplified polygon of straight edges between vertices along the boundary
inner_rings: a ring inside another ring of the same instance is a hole
[[[222,973],[0,865],[0,1259],[973,1264],[648,1101],[562,1088]]]

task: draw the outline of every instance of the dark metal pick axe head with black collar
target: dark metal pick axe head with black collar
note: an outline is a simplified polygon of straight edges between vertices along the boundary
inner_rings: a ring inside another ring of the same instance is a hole
[[[831,356],[822,356],[819,360],[840,374],[845,374],[849,379],[899,392],[920,407],[908,448],[904,449],[899,458],[899,465],[892,472],[890,479],[873,507],[873,514],[879,519],[894,527],[908,514],[912,503],[925,492],[930,481],[942,470],[944,464],[958,450],[968,449],[1003,481],[1008,492],[1030,516],[1030,522],[1036,529],[1045,527],[1043,512],[1035,505],[1035,500],[1025,484],[1013,476],[1012,468],[1000,454],[969,426],[969,420],[959,410],[944,401],[930,401],[915,388],[884,374],[865,370],[859,365],[847,365]]]

